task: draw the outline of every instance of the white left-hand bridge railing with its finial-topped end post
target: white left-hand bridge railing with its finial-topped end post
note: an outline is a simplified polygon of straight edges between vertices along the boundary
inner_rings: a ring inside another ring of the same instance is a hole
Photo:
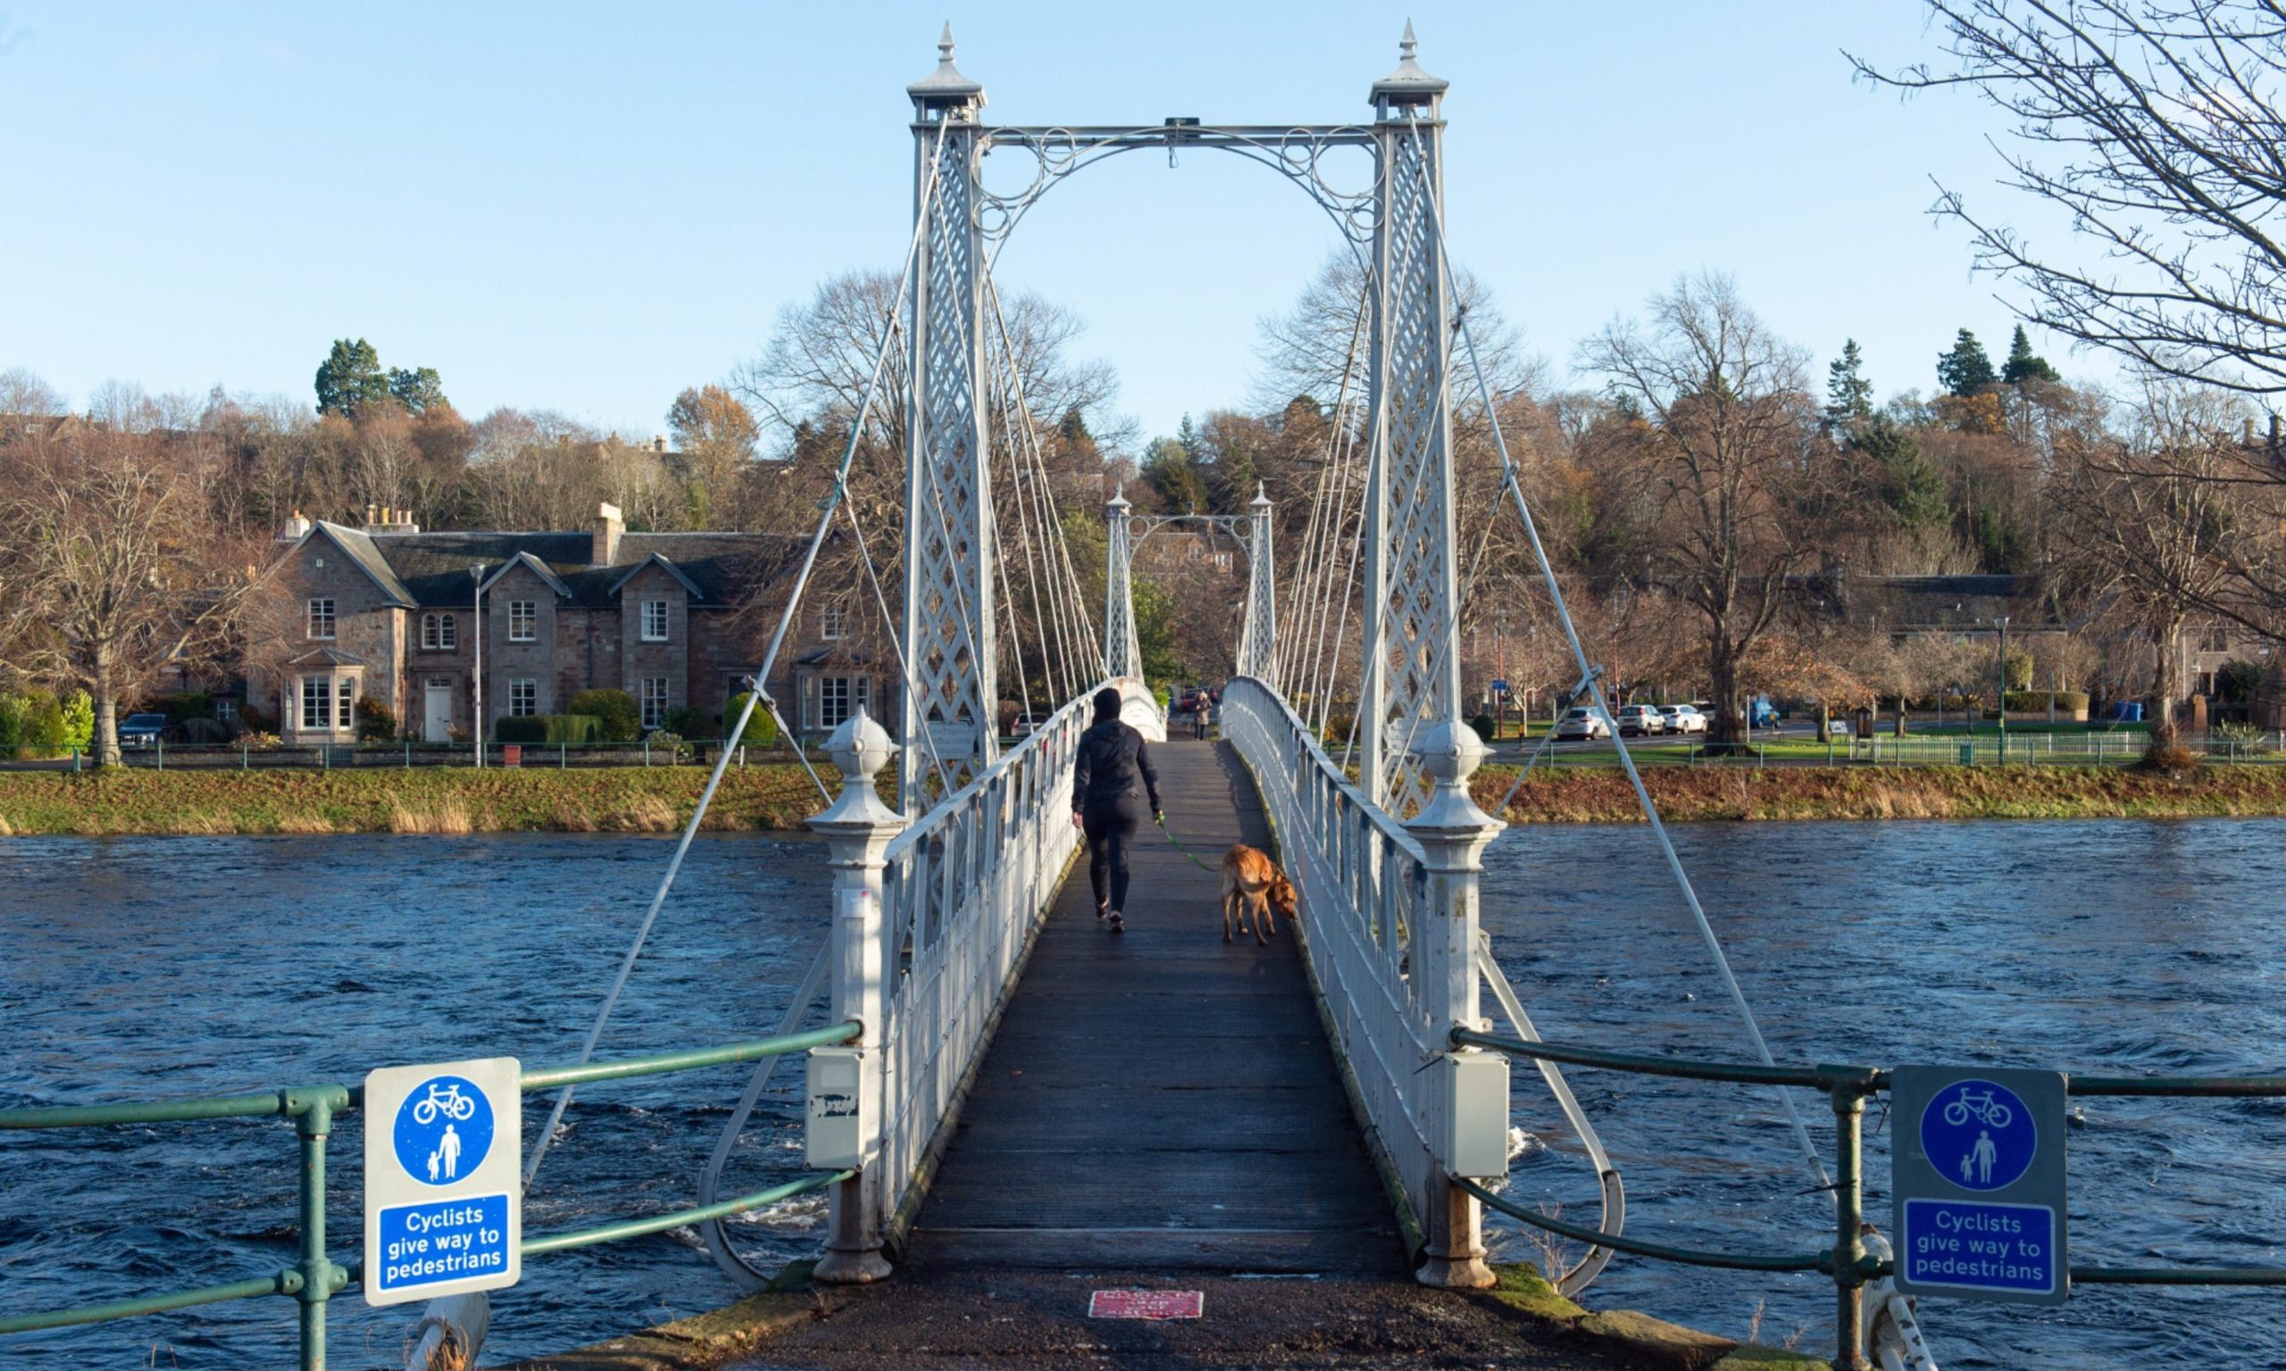
[[[1129,722],[1152,722],[1138,681],[1106,686],[1125,697]],[[1090,697],[1058,708],[910,825],[876,795],[892,752],[880,724],[857,715],[828,743],[841,797],[812,827],[832,843],[834,1012],[864,1035],[853,1049],[860,1174],[832,1193],[818,1280],[889,1273],[880,1250],[919,1209],[946,1122],[1079,848],[1072,761]]]

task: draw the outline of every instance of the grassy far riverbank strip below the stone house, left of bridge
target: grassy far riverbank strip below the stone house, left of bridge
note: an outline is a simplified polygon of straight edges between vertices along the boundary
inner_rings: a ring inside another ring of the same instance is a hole
[[[834,786],[832,768],[825,784]],[[9,834],[663,834],[690,823],[706,770],[126,770],[0,772]],[[800,765],[732,768],[706,829],[800,829],[821,809]]]

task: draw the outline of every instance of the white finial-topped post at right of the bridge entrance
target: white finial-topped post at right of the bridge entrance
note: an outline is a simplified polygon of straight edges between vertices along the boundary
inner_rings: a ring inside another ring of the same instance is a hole
[[[1406,825],[1422,845],[1426,889],[1413,909],[1415,973],[1420,1005],[1429,1012],[1436,1042],[1452,1042],[1454,1028],[1479,1028],[1477,1017],[1477,882],[1484,848],[1500,834],[1497,818],[1477,809],[1468,777],[1486,759],[1484,740],[1461,720],[1422,729],[1413,759],[1431,781],[1429,804]],[[1454,1056],[1472,1047],[1449,1049]],[[1431,1104],[1440,1117],[1449,1101]],[[1484,1264],[1484,1206],[1452,1181],[1449,1156],[1438,1156],[1422,1213],[1429,1259],[1417,1280],[1433,1286],[1484,1289],[1500,1282]]]

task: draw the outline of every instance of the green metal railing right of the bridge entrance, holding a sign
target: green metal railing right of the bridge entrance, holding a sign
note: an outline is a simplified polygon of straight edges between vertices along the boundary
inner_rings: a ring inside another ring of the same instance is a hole
[[[1863,1339],[1863,1291],[1868,1282],[1895,1275],[1895,1261],[1877,1259],[1865,1250],[1865,1181],[1863,1181],[1863,1120],[1865,1099],[1888,1090],[1888,1072],[1879,1067],[1765,1067],[1760,1063],[1710,1063],[1689,1058],[1639,1056],[1625,1051],[1602,1051],[1591,1047],[1561,1047],[1554,1042],[1525,1042],[1495,1033],[1454,1028],[1454,1044],[1484,1047],[1509,1056],[1564,1063],[1602,1072],[1630,1072],[1637,1076],[1676,1076],[1682,1081],[1724,1081],[1733,1085],[1795,1085],[1822,1090],[1833,1104],[1833,1245],[1815,1252],[1712,1252],[1703,1248],[1676,1248],[1646,1243],[1598,1232],[1589,1225],[1564,1222],[1513,1200],[1504,1200],[1484,1186],[1454,1177],[1454,1184],[1481,1200],[1486,1206],[1550,1234],[1653,1257],[1657,1261],[1680,1261],[1685,1266],[1719,1266],[1728,1270],[1817,1270],[1833,1280],[1836,1296],[1836,1357],[1838,1371],[1865,1366]],[[2064,1076],[2069,1095],[2133,1095],[2133,1097],[2199,1097],[2199,1099],[2252,1099],[2286,1097],[2286,1076]],[[2286,1286],[2286,1268],[2279,1266],[2071,1266],[2076,1284],[2172,1284],[2172,1286]]]

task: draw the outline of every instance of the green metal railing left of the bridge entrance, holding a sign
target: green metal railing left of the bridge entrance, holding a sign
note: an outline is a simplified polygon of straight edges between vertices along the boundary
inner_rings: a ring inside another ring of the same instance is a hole
[[[535,1067],[523,1072],[521,1090],[549,1090],[555,1085],[583,1085],[588,1081],[624,1081],[629,1076],[697,1072],[702,1067],[750,1063],[766,1056],[784,1056],[807,1051],[812,1047],[850,1042],[857,1033],[857,1024],[834,1024],[830,1028],[812,1028],[809,1033],[757,1037],[750,1042],[732,1042],[695,1051],[668,1051],[572,1067]],[[142,1296],[135,1300],[110,1300],[105,1305],[46,1309],[39,1314],[0,1314],[0,1334],[69,1328],[73,1323],[105,1323],[112,1318],[135,1318],[139,1314],[160,1314],[167,1309],[187,1309],[192,1305],[215,1305],[222,1300],[245,1300],[254,1296],[293,1296],[302,1307],[302,1366],[304,1371],[322,1371],[327,1300],[347,1289],[361,1275],[359,1266],[341,1266],[325,1254],[325,1147],[327,1138],[334,1133],[334,1115],[359,1108],[361,1104],[361,1085],[295,1085],[263,1095],[222,1095],[213,1099],[0,1108],[0,1129],[103,1129],[117,1124],[288,1117],[295,1122],[295,1136],[299,1138],[302,1152],[302,1252],[295,1266],[272,1275],[254,1275],[229,1284]],[[528,1236],[519,1250],[526,1257],[537,1257],[542,1252],[562,1252],[569,1248],[592,1248],[597,1243],[640,1238],[645,1234],[658,1234],[672,1227],[727,1218],[748,1209],[761,1209],[764,1204],[777,1204],[780,1200],[789,1200],[807,1190],[823,1190],[825,1186],[846,1181],[855,1172],[818,1172],[782,1186],[770,1186],[768,1190],[741,1195],[736,1200],[702,1204],[697,1209],[677,1209],[674,1213],[631,1218],[567,1234]]]

